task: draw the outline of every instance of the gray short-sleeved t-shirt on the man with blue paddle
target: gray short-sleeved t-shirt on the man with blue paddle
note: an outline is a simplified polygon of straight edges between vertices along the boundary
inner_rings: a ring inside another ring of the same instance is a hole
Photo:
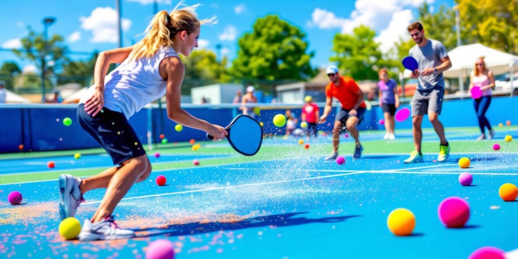
[[[448,56],[448,52],[442,43],[435,39],[428,39],[428,44],[423,48],[415,45],[408,52],[419,63],[419,71],[425,68],[434,68],[442,64],[441,59]],[[435,85],[440,85],[444,88],[444,77],[442,73],[433,73],[429,76],[419,75],[418,90],[430,90]]]

